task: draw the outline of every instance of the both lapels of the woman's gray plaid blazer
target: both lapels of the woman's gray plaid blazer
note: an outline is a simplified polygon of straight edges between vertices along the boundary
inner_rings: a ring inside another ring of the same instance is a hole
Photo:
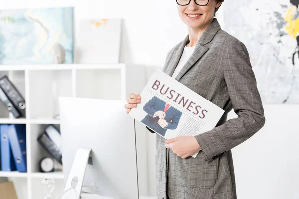
[[[205,44],[209,43],[215,36],[215,34],[220,29],[220,25],[216,18],[213,19],[212,23],[209,27],[203,32],[199,41],[197,42],[194,52],[183,66],[182,70],[175,77],[175,80],[179,81],[183,75],[207,52],[209,49]],[[165,70],[165,73],[169,76],[173,75],[173,72],[183,54],[184,47],[190,42],[189,34],[185,37],[185,39],[181,42],[179,48],[174,52],[174,55]]]

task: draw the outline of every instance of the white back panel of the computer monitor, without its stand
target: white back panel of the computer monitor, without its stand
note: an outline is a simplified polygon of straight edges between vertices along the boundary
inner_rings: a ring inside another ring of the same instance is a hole
[[[134,119],[125,101],[59,98],[64,183],[80,147],[91,148],[83,185],[114,199],[138,199]]]

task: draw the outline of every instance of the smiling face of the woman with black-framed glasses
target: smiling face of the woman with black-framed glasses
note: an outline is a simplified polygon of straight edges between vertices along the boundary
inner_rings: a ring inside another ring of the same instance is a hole
[[[221,5],[218,0],[191,0],[190,3],[189,1],[176,0],[177,9],[182,21],[195,29],[206,28],[213,19],[215,8]]]

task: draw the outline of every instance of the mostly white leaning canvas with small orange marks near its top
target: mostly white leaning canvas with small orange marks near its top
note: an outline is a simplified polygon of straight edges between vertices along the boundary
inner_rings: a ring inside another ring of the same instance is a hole
[[[76,63],[119,63],[121,19],[100,18],[79,21]]]

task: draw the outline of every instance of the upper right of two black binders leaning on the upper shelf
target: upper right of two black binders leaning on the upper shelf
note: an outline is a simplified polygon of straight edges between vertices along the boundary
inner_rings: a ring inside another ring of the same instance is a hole
[[[20,92],[16,89],[16,87],[12,84],[12,82],[10,82],[10,80],[6,75],[0,79],[0,87],[2,88],[3,92],[6,94],[8,99],[16,107],[18,112],[23,117],[25,117],[26,116],[25,99],[20,94]]]

